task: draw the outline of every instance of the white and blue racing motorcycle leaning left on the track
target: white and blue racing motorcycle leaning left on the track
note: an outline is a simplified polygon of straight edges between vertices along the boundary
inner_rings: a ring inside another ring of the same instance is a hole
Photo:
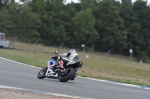
[[[60,57],[55,51],[55,56],[50,59],[50,65],[41,69],[37,77],[39,79],[43,79],[45,77],[48,78],[56,78],[59,79],[60,82],[67,82],[69,80],[74,80],[77,76],[77,70],[82,68],[83,62],[79,60],[66,61],[63,57]],[[63,68],[63,71],[61,70]]]

